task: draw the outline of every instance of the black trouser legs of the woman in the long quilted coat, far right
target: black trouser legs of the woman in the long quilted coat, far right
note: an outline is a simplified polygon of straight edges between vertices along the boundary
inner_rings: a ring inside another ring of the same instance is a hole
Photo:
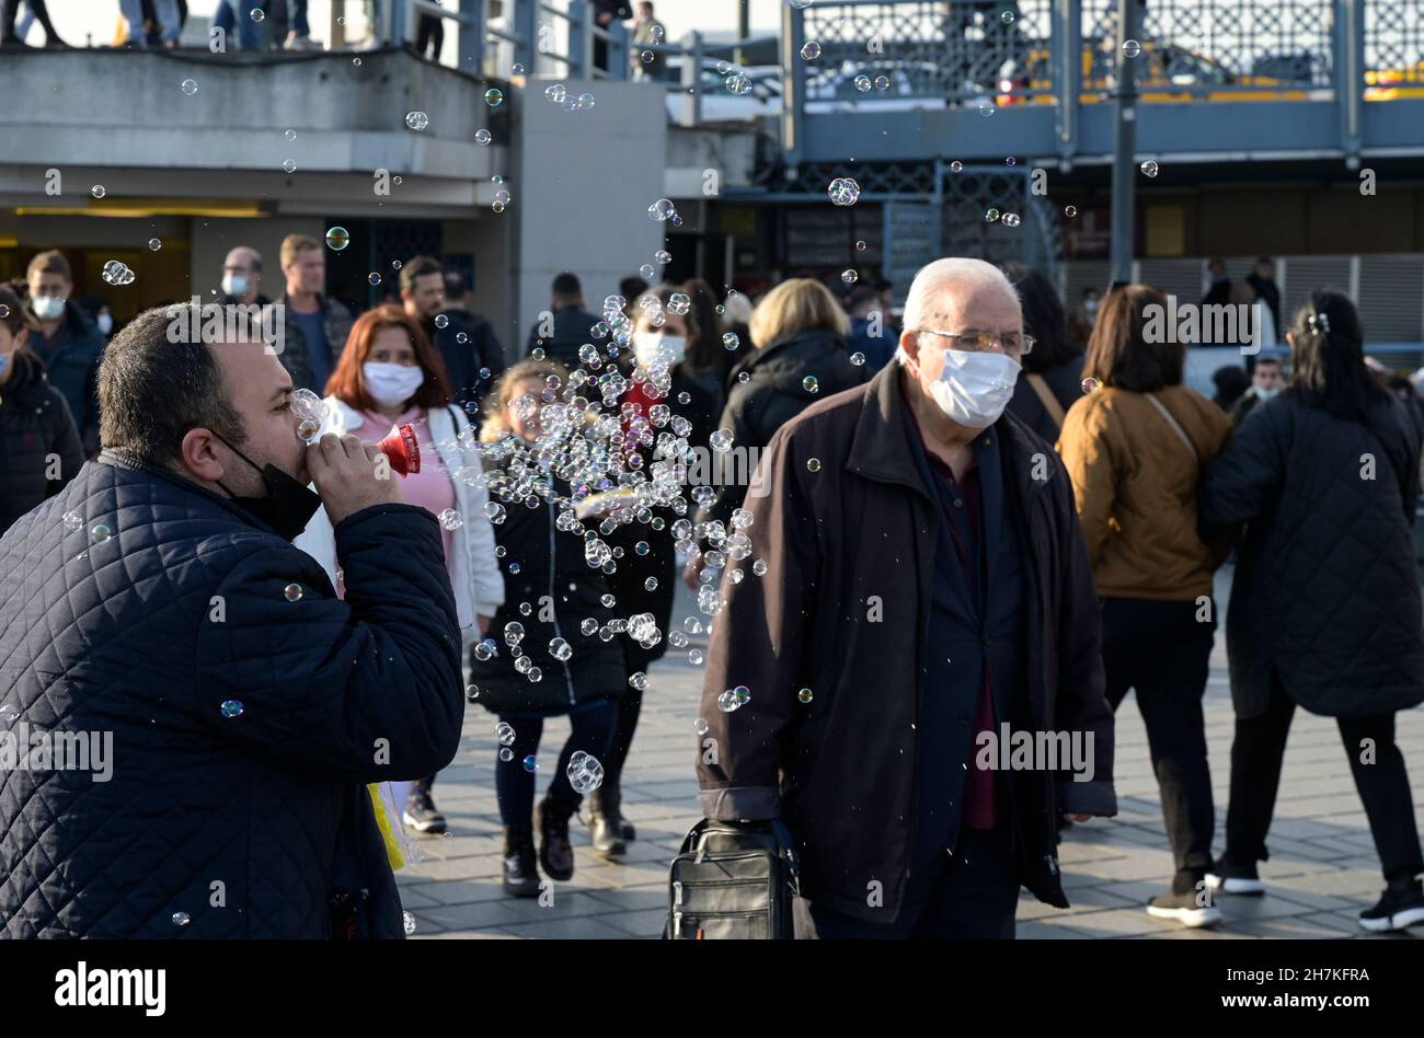
[[[1276,807],[1280,763],[1296,703],[1272,675],[1270,702],[1256,718],[1236,719],[1232,743],[1232,802],[1226,810],[1226,860],[1232,864],[1265,861],[1266,830]],[[1398,884],[1424,871],[1420,834],[1414,823],[1414,797],[1404,770],[1404,755],[1394,742],[1394,715],[1337,718],[1340,739],[1350,759],[1354,787],[1364,802],[1374,850],[1387,883]],[[1374,762],[1361,763],[1364,740],[1374,745]]]

